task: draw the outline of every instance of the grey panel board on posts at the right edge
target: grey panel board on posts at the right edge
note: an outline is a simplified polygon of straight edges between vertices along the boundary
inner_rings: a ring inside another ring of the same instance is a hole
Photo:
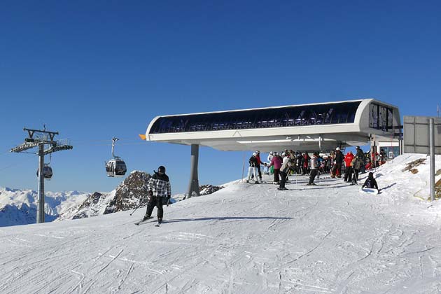
[[[429,154],[429,116],[405,116],[403,121],[404,153]],[[433,118],[435,154],[441,154],[441,118]]]

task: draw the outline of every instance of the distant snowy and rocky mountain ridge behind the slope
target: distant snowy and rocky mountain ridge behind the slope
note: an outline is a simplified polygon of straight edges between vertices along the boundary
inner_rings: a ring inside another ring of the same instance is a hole
[[[45,192],[45,222],[89,218],[102,214],[146,206],[148,180],[151,175],[134,171],[110,193],[94,192]],[[201,195],[208,195],[222,186],[200,186]],[[36,223],[36,199],[34,190],[0,188],[0,227]],[[180,197],[182,196],[182,197]],[[185,195],[175,195],[183,199]],[[171,203],[176,202],[172,199]]]

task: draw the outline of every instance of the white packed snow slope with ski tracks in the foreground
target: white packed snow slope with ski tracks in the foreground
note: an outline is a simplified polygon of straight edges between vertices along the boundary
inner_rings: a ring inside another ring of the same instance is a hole
[[[292,176],[164,207],[160,228],[133,224],[145,209],[0,228],[0,293],[440,293],[428,160],[402,172],[417,158],[377,169],[379,195]]]

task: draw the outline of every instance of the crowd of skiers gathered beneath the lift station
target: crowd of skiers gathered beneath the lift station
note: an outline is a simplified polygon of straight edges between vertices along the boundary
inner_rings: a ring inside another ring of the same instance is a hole
[[[267,161],[260,158],[260,151],[255,151],[248,160],[248,176],[246,183],[262,183],[262,173],[274,176],[272,183],[279,185],[279,190],[287,190],[285,184],[292,174],[309,175],[308,186],[315,186],[314,180],[320,174],[330,174],[331,178],[343,178],[351,184],[358,183],[358,176],[372,169],[372,161],[376,166],[386,162],[386,153],[381,149],[373,157],[371,153],[364,153],[360,146],[356,146],[356,154],[349,151],[344,155],[337,147],[330,153],[309,155],[308,152],[284,150],[270,152]],[[344,172],[344,174],[342,174]]]

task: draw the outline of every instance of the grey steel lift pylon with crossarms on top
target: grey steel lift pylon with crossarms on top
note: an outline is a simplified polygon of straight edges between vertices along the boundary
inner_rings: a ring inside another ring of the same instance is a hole
[[[38,147],[38,199],[37,199],[37,215],[36,223],[44,223],[44,155],[57,151],[71,150],[73,146],[65,141],[55,141],[55,135],[58,132],[50,132],[44,130],[31,130],[26,127],[29,137],[25,138],[25,143],[10,149],[10,152],[22,153],[31,148]],[[45,146],[48,145],[48,148]]]

